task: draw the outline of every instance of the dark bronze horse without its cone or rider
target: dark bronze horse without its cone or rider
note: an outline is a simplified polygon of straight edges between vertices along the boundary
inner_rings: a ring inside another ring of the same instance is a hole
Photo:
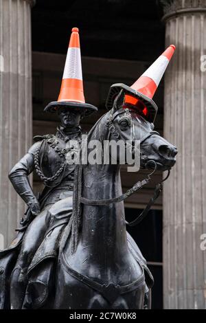
[[[88,142],[140,140],[141,167],[170,170],[176,147],[153,131],[141,111],[124,109],[122,98],[120,93],[93,126]],[[55,309],[150,308],[152,276],[126,232],[122,199],[115,203],[122,194],[119,169],[118,163],[76,168],[73,215],[56,269]]]

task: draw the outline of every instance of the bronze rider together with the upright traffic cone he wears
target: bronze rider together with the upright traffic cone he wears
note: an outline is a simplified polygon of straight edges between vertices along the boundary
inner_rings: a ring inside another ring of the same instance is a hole
[[[58,113],[60,126],[56,135],[34,137],[33,146],[9,174],[14,189],[28,208],[17,229],[16,238],[8,249],[0,251],[0,309],[33,307],[29,300],[32,297],[30,293],[34,294],[29,282],[32,260],[36,259],[38,264],[45,260],[42,270],[46,275],[42,278],[39,271],[36,282],[39,293],[42,296],[47,291],[49,293],[53,284],[58,240],[72,212],[75,165],[68,164],[67,158],[76,153],[72,141],[81,141],[80,120],[98,110],[84,101],[80,47],[70,47],[73,43],[79,45],[77,28],[73,28],[71,34],[58,101],[50,102],[45,107],[45,112]],[[76,62],[75,66],[73,61]],[[69,73],[72,74],[71,80]],[[45,186],[38,197],[34,195],[28,179],[34,170]],[[43,286],[46,288],[44,291]],[[41,300],[39,302],[41,304]]]

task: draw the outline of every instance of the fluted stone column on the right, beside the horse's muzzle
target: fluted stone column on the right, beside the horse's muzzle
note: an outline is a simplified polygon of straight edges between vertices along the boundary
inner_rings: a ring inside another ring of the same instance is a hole
[[[179,154],[163,190],[165,309],[206,307],[206,1],[161,1],[165,47],[164,136]],[[204,61],[205,60],[205,65]]]

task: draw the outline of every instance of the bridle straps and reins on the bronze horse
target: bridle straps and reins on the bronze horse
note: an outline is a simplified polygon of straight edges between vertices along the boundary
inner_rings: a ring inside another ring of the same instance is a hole
[[[124,111],[124,112],[128,113],[128,111]],[[115,111],[115,113],[113,113],[113,109],[112,109],[111,115],[108,117],[108,120],[106,121],[106,126],[108,127],[108,132],[110,134],[113,134],[113,136],[116,138],[122,137],[122,135],[120,136],[117,127],[113,123],[113,120],[115,119],[115,117],[118,114],[119,114],[119,111]],[[146,139],[148,139],[148,137],[150,137],[151,135],[154,135],[154,134],[159,135],[159,133],[157,131],[148,132],[144,137],[141,138],[141,140],[139,140],[140,144],[142,144]],[[154,161],[154,160],[146,161],[146,159],[144,161],[145,161],[145,166],[148,166],[148,164],[150,164],[151,166],[154,167],[154,170],[152,170],[152,172],[149,175],[147,175],[147,177],[145,179],[143,179],[141,181],[137,181],[137,183],[135,183],[135,185],[132,188],[130,188],[129,190],[127,190],[124,194],[120,195],[119,197],[114,197],[113,199],[99,199],[99,200],[85,199],[84,197],[80,197],[80,203],[85,204],[85,205],[97,206],[97,205],[109,205],[111,203],[119,203],[121,201],[124,201],[125,199],[130,197],[130,195],[137,192],[137,190],[140,190],[146,184],[148,184],[149,181],[152,179],[151,178],[152,175],[156,172],[156,170],[157,170],[156,161]],[[146,205],[146,208],[144,208],[144,210],[141,212],[141,214],[139,214],[134,221],[131,221],[131,222],[125,221],[126,225],[133,227],[133,226],[139,224],[146,217],[146,215],[148,214],[148,211],[150,210],[152,205],[155,203],[155,201],[159,197],[160,192],[163,189],[163,186],[162,186],[163,181],[168,179],[169,176],[170,176],[170,170],[168,170],[168,175],[162,181],[160,181],[159,183],[156,184],[154,194],[150,198],[150,201]]]

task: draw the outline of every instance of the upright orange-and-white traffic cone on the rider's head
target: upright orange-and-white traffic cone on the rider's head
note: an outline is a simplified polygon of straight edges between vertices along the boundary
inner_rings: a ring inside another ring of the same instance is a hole
[[[78,109],[78,111],[84,112],[84,114],[87,115],[98,110],[98,108],[93,105],[85,103],[82,81],[80,37],[79,30],[76,27],[71,30],[71,38],[69,41],[65,70],[62,77],[62,85],[58,100],[50,102],[47,107],[45,107],[45,111],[55,112],[60,107]]]

